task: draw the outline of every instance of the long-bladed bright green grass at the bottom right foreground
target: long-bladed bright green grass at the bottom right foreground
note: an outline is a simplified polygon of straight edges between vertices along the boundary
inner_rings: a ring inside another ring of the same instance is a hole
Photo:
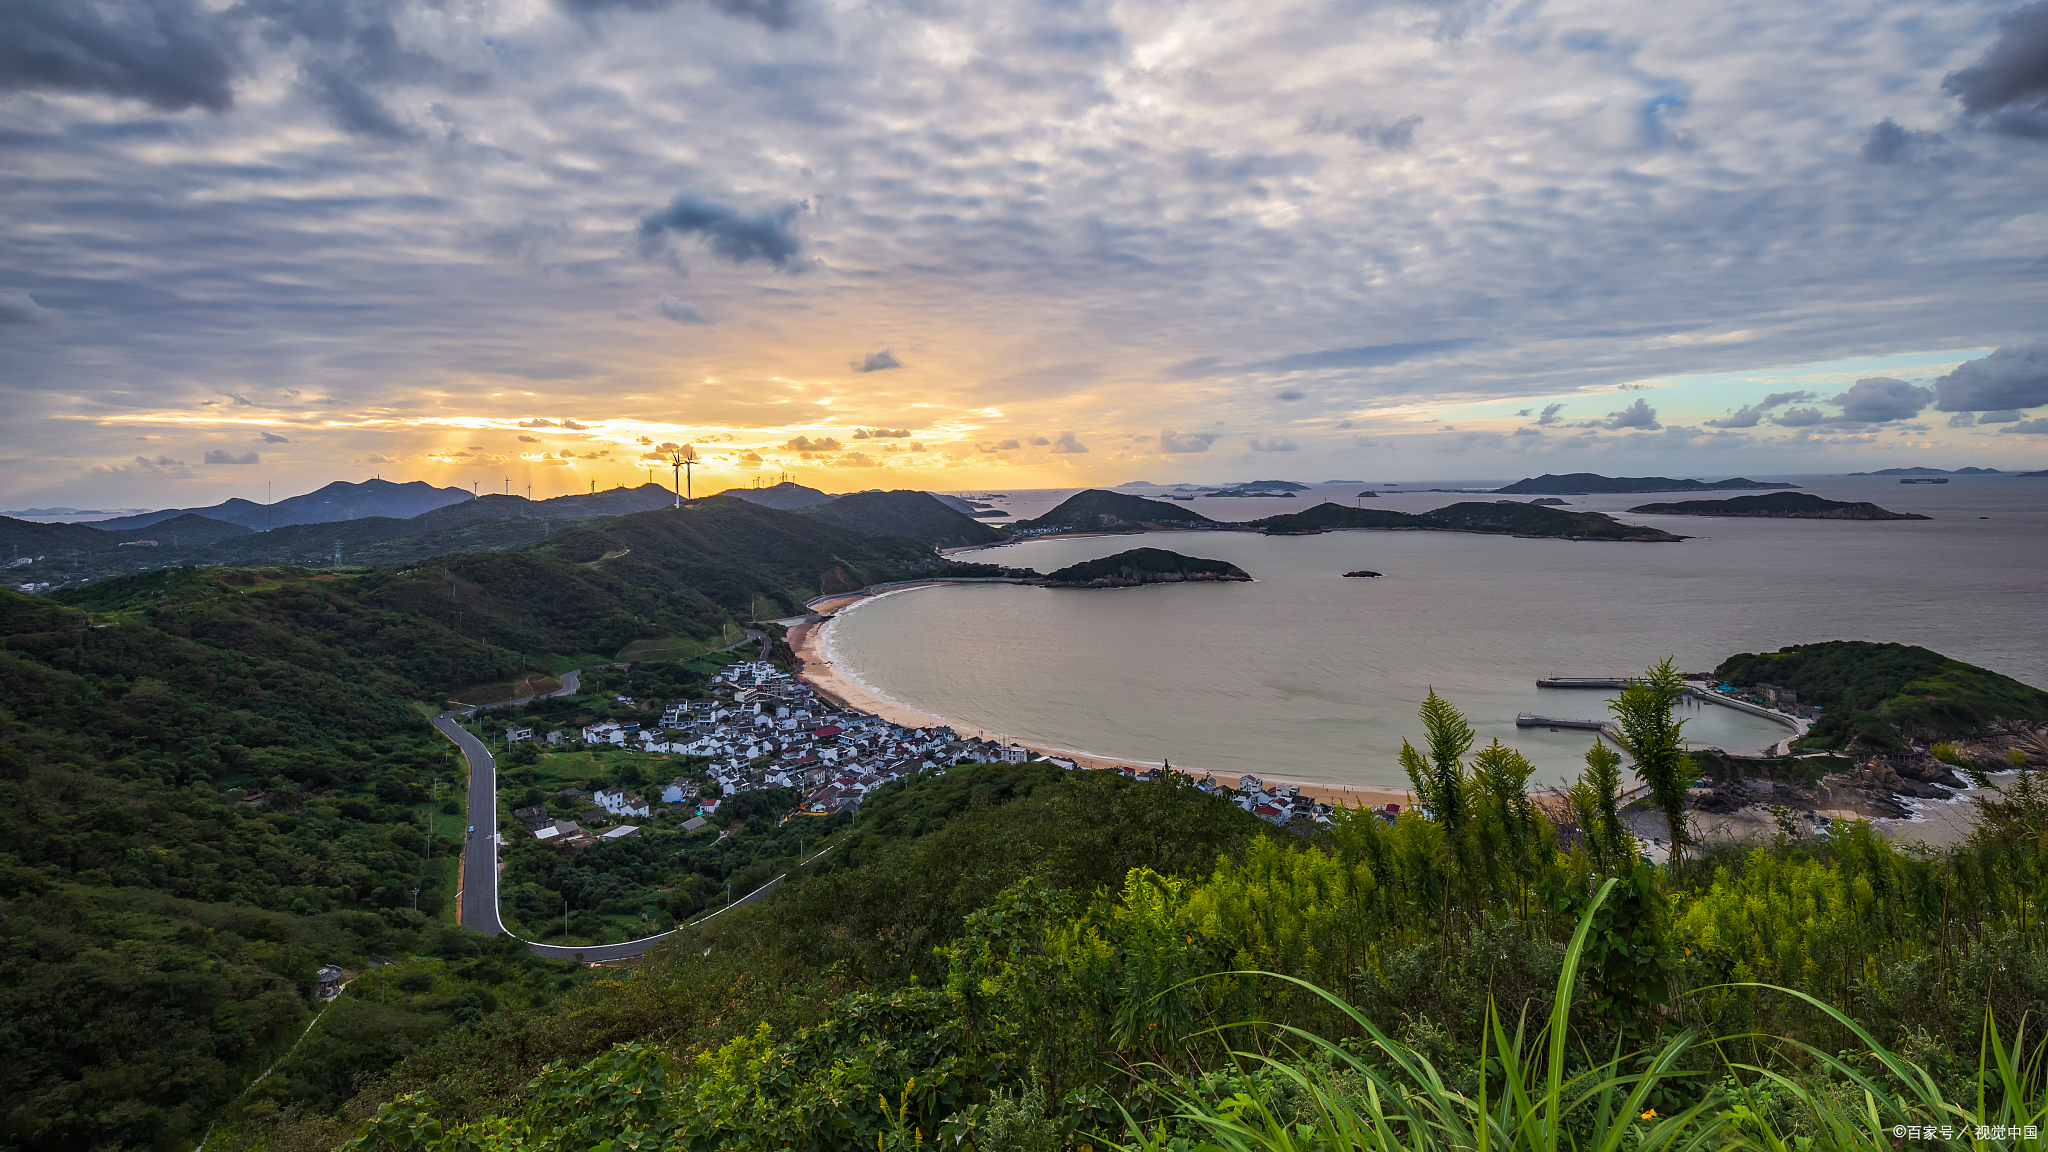
[[[1888,1052],[1841,1011],[1784,988],[1772,990],[1798,996],[1833,1017],[1858,1037],[1868,1060],[1778,1041],[1798,1047],[1800,1064],[1810,1070],[1792,1076],[1780,1068],[1726,1060],[1718,1056],[1718,1041],[1700,1041],[1688,1029],[1653,1050],[1628,1056],[1616,1052],[1606,1062],[1581,1054],[1573,1066],[1579,1070],[1567,1072],[1571,992],[1593,912],[1614,886],[1610,879],[1579,920],[1559,974],[1554,1006],[1534,1037],[1526,1035],[1528,1021],[1518,1021],[1509,1031],[1489,1004],[1479,1054],[1489,1074],[1481,1078],[1477,1093],[1454,1088],[1454,1076],[1382,1033],[1335,994],[1288,976],[1237,972],[1229,976],[1284,980],[1321,996],[1368,1041],[1337,1043],[1296,1027],[1278,1027],[1280,1054],[1233,1056],[1241,1066],[1262,1068],[1292,1086],[1305,1109],[1276,1115],[1264,1099],[1245,1093],[1217,1099],[1214,1093],[1194,1091],[1186,1080],[1167,1078],[1155,1091],[1178,1109],[1174,1125],[1182,1132],[1171,1132],[1167,1123],[1145,1127],[1130,1121],[1128,1142],[1118,1146],[1120,1152],[1845,1152],[1886,1148],[1894,1140],[1907,1140],[1913,1148],[1980,1150],[2019,1148],[2021,1142],[2017,1134],[2007,1142],[1976,1140],[1978,1125],[2048,1127],[2048,1045],[2036,1043],[2028,1054],[2023,1033],[2007,1043],[1995,1027],[1987,1029],[1976,1101],[1948,1101],[1925,1068]],[[1720,1082],[1726,1086],[1704,1093],[1694,1088],[1688,1095],[1698,1097],[1696,1105],[1677,1115],[1659,1115],[1647,1101],[1663,1084],[1686,1078],[1698,1084],[1698,1064],[1708,1047],[1716,1054],[1708,1066],[1720,1066]],[[1772,1107],[1765,1097],[1792,1107]],[[1786,1113],[1790,1121],[1782,1119]],[[1948,1138],[1937,1136],[1944,1123],[1950,1125]],[[1929,1125],[1935,1136],[1919,1138],[1915,1129],[1925,1132]],[[1190,1140],[1188,1129],[1198,1136]]]

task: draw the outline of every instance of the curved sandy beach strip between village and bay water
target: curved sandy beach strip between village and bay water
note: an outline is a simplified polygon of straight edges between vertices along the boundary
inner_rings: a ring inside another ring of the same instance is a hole
[[[895,596],[899,592],[915,592],[915,590],[922,590],[922,588],[936,588],[936,586],[940,586],[938,580],[934,580],[930,584],[913,584],[913,586],[907,586],[907,588],[889,588],[889,590],[879,592],[879,594],[848,592],[844,596],[834,596],[829,601],[819,601],[817,605],[813,605],[809,619],[805,619],[803,623],[799,623],[799,625],[795,625],[795,627],[788,629],[788,646],[791,646],[791,652],[797,654],[797,676],[803,683],[811,685],[817,691],[817,695],[825,697],[827,701],[831,701],[831,703],[836,703],[840,707],[852,709],[852,711],[866,711],[866,713],[879,715],[879,717],[887,719],[889,724],[901,724],[903,728],[940,728],[940,726],[944,726],[944,728],[952,728],[961,736],[981,736],[983,740],[993,740],[995,734],[991,734],[991,732],[987,732],[983,728],[975,728],[975,726],[958,722],[958,719],[950,719],[950,717],[944,717],[944,715],[922,711],[922,709],[909,707],[909,705],[905,705],[905,703],[901,703],[897,699],[891,699],[891,697],[874,691],[866,683],[862,683],[860,676],[856,676],[854,672],[850,672],[850,670],[842,668],[838,662],[834,662],[834,650],[831,650],[831,644],[829,644],[829,640],[827,640],[825,633],[827,633],[827,627],[829,627],[831,619],[838,613],[848,611],[854,605],[860,605],[864,601],[877,601],[881,596]],[[1022,738],[1022,736],[1008,736],[1008,734],[1004,734],[1001,740],[1006,744],[1020,744],[1020,746],[1030,748],[1032,752],[1038,752],[1042,756],[1059,756],[1063,760],[1073,760],[1075,767],[1079,767],[1079,769],[1114,771],[1118,767],[1133,767],[1133,769],[1159,769],[1159,767],[1165,767],[1165,765],[1161,765],[1157,760],[1130,760],[1130,758],[1120,758],[1120,756],[1104,756],[1100,752],[1087,752],[1087,750],[1081,750],[1081,748],[1065,748],[1061,744],[1051,744],[1051,742],[1044,742],[1044,740],[1030,740],[1030,738]],[[1223,775],[1223,773],[1210,773],[1210,771],[1200,771],[1200,769],[1174,769],[1174,771],[1180,773],[1180,775],[1186,775],[1190,779],[1202,779],[1202,777],[1214,775],[1219,781],[1225,781],[1231,787],[1237,785],[1237,775],[1239,775],[1239,773]],[[1311,797],[1311,799],[1319,799],[1323,804],[1341,806],[1341,808],[1382,808],[1386,804],[1399,804],[1403,808],[1413,808],[1413,804],[1415,804],[1415,797],[1413,797],[1413,793],[1409,789],[1364,787],[1364,785],[1333,785],[1333,783],[1321,783],[1321,781],[1300,781],[1300,779],[1290,779],[1290,777],[1270,777],[1270,775],[1264,775],[1264,773],[1249,773],[1249,775],[1255,775],[1255,777],[1260,777],[1266,783],[1280,783],[1280,785],[1298,787],[1300,793],[1307,795],[1307,797]]]

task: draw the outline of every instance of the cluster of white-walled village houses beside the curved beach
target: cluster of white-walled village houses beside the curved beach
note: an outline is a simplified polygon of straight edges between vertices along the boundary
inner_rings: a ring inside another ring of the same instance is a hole
[[[635,705],[631,697],[614,697]],[[580,787],[559,791],[590,808],[578,820],[563,820],[547,804],[512,810],[526,834],[561,851],[637,836],[633,820],[670,820],[684,832],[719,824],[731,797],[762,789],[793,789],[803,801],[784,820],[854,812],[862,797],[885,783],[944,773],[958,765],[1049,763],[1077,771],[1069,758],[1042,756],[1014,742],[958,736],[952,728],[905,728],[881,717],[838,707],[811,685],[770,662],[739,662],[711,678],[711,699],[684,701],[659,722],[606,719],[584,728],[508,728],[506,742],[535,742],[549,750],[625,748],[647,754],[709,760],[690,775],[643,791],[602,787],[588,795]],[[1171,769],[1114,769],[1128,779],[1163,781]],[[1331,808],[1303,797],[1294,785],[1268,785],[1257,777],[1237,777],[1235,785],[1202,777],[1196,787],[1223,795],[1268,820],[1329,824]],[[602,828],[602,830],[598,830]]]

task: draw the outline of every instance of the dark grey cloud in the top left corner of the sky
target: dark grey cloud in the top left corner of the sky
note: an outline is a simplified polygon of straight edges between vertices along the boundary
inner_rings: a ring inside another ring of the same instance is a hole
[[[233,29],[195,0],[8,0],[0,90],[98,92],[168,113],[233,105]]]

